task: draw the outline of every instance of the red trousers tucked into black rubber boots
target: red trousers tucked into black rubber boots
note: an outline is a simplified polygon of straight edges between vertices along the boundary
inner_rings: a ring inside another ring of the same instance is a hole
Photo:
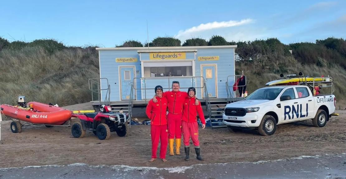
[[[183,136],[184,136],[184,147],[190,146],[190,136],[195,147],[199,147],[198,140],[198,123],[197,122],[185,122],[182,123]]]

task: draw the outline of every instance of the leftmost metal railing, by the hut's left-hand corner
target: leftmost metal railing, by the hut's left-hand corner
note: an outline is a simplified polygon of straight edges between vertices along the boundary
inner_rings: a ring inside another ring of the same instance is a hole
[[[107,88],[101,88],[101,80],[105,79],[107,81]],[[106,96],[104,98],[104,104],[110,105],[110,85],[107,78],[91,78],[88,80],[89,90],[91,91],[91,101],[98,101],[101,105],[102,96],[101,92],[106,91]],[[94,93],[97,95],[97,100],[94,98]]]

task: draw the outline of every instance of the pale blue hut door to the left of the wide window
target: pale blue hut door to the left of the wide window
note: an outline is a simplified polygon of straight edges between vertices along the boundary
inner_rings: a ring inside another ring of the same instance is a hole
[[[120,79],[120,100],[130,100],[131,85],[133,78],[135,78],[135,66],[120,66],[119,79]],[[134,84],[135,85],[135,84]],[[133,91],[132,98],[136,100],[135,91]]]

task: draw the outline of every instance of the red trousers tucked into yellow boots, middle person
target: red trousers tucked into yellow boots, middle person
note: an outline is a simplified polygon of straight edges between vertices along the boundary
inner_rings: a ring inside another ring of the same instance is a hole
[[[168,113],[167,121],[168,121],[168,138],[181,139],[181,121],[183,118],[183,114],[171,114]]]

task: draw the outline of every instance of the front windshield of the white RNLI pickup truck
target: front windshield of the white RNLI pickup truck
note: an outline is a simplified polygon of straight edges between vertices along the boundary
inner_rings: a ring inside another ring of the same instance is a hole
[[[261,88],[250,94],[245,100],[275,100],[283,88]]]

